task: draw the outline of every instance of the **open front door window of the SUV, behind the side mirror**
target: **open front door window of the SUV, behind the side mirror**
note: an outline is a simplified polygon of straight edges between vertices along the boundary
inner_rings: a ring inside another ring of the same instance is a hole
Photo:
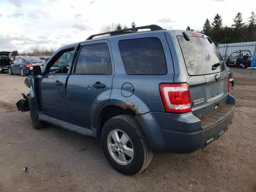
[[[65,74],[68,73],[70,60],[72,58],[74,48],[60,51],[48,62],[46,73]]]

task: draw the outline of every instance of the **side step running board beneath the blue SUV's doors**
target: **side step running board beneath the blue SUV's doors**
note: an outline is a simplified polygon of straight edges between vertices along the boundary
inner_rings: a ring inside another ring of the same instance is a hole
[[[83,135],[92,136],[92,130],[89,130],[87,128],[80,127],[80,126],[77,126],[77,125],[70,124],[68,122],[50,117],[48,115],[38,114],[38,118],[41,121],[45,121],[45,122],[48,122],[50,124],[61,126],[61,127],[65,128],[65,129],[68,129],[68,130],[71,130],[71,131],[74,131],[74,132],[77,132],[77,133],[80,133],[80,134],[83,134]]]

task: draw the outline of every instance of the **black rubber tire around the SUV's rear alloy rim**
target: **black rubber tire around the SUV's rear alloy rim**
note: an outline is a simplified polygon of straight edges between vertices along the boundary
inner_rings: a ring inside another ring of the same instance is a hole
[[[108,150],[108,134],[115,129],[126,133],[132,142],[134,156],[128,165],[121,165],[116,162]],[[109,119],[102,128],[101,142],[108,162],[118,172],[125,175],[135,175],[142,172],[150,164],[153,157],[153,153],[149,149],[146,139],[142,134],[140,125],[135,118],[130,115],[119,115]]]

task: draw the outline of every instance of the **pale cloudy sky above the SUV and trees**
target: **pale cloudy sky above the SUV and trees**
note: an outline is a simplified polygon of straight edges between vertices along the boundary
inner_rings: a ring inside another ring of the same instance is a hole
[[[206,18],[212,22],[219,13],[231,25],[238,11],[247,21],[255,8],[256,0],[0,0],[0,50],[58,48],[112,22],[202,29]]]

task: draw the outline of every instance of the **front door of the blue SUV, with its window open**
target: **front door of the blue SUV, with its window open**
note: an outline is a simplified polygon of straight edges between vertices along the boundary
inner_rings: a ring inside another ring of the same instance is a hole
[[[38,76],[39,101],[42,111],[59,118],[68,118],[66,108],[66,80],[68,68],[73,59],[74,47],[60,50],[43,68],[43,75]],[[69,54],[70,59],[60,61],[63,54]]]

